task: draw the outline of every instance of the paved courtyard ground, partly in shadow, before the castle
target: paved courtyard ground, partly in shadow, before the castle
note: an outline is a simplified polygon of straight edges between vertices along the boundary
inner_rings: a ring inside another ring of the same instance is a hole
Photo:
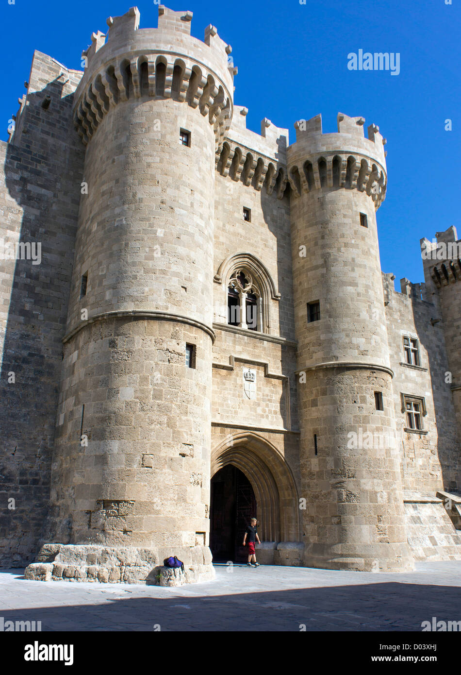
[[[0,572],[0,622],[42,630],[421,630],[461,620],[461,562],[369,574],[216,565],[216,579],[179,588],[28,581]],[[3,624],[2,624],[3,625]]]

